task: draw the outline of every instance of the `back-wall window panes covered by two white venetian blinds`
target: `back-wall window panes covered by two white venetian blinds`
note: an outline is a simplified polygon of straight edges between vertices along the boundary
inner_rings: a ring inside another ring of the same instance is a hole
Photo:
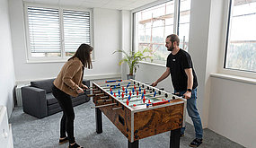
[[[28,57],[65,59],[81,43],[91,45],[90,11],[26,6]]]

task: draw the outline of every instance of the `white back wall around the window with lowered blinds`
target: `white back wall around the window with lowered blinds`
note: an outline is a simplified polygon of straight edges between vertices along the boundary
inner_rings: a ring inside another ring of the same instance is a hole
[[[10,0],[10,19],[13,35],[13,57],[17,82],[56,77],[64,63],[27,63],[24,11],[22,0]],[[85,70],[85,78],[99,78],[101,75],[120,76],[119,54],[112,55],[120,48],[120,11],[93,9],[94,57],[92,70]]]

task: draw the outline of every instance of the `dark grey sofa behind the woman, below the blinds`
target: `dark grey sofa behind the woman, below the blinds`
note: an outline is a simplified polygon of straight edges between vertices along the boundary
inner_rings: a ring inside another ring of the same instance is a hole
[[[35,81],[30,86],[22,87],[22,106],[25,113],[36,118],[45,118],[62,110],[51,91],[53,81],[54,79]],[[83,83],[90,86],[90,81]],[[72,97],[73,106],[89,101],[86,93]]]

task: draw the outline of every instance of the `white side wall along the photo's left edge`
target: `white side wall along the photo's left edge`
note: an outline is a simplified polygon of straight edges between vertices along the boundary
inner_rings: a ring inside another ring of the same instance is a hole
[[[0,105],[7,108],[8,117],[10,117],[13,110],[15,76],[7,0],[0,0],[0,20]]]

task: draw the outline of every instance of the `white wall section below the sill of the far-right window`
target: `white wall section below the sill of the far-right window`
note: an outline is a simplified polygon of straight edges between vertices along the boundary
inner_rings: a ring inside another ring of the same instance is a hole
[[[256,147],[256,84],[211,77],[208,128],[245,147]]]

